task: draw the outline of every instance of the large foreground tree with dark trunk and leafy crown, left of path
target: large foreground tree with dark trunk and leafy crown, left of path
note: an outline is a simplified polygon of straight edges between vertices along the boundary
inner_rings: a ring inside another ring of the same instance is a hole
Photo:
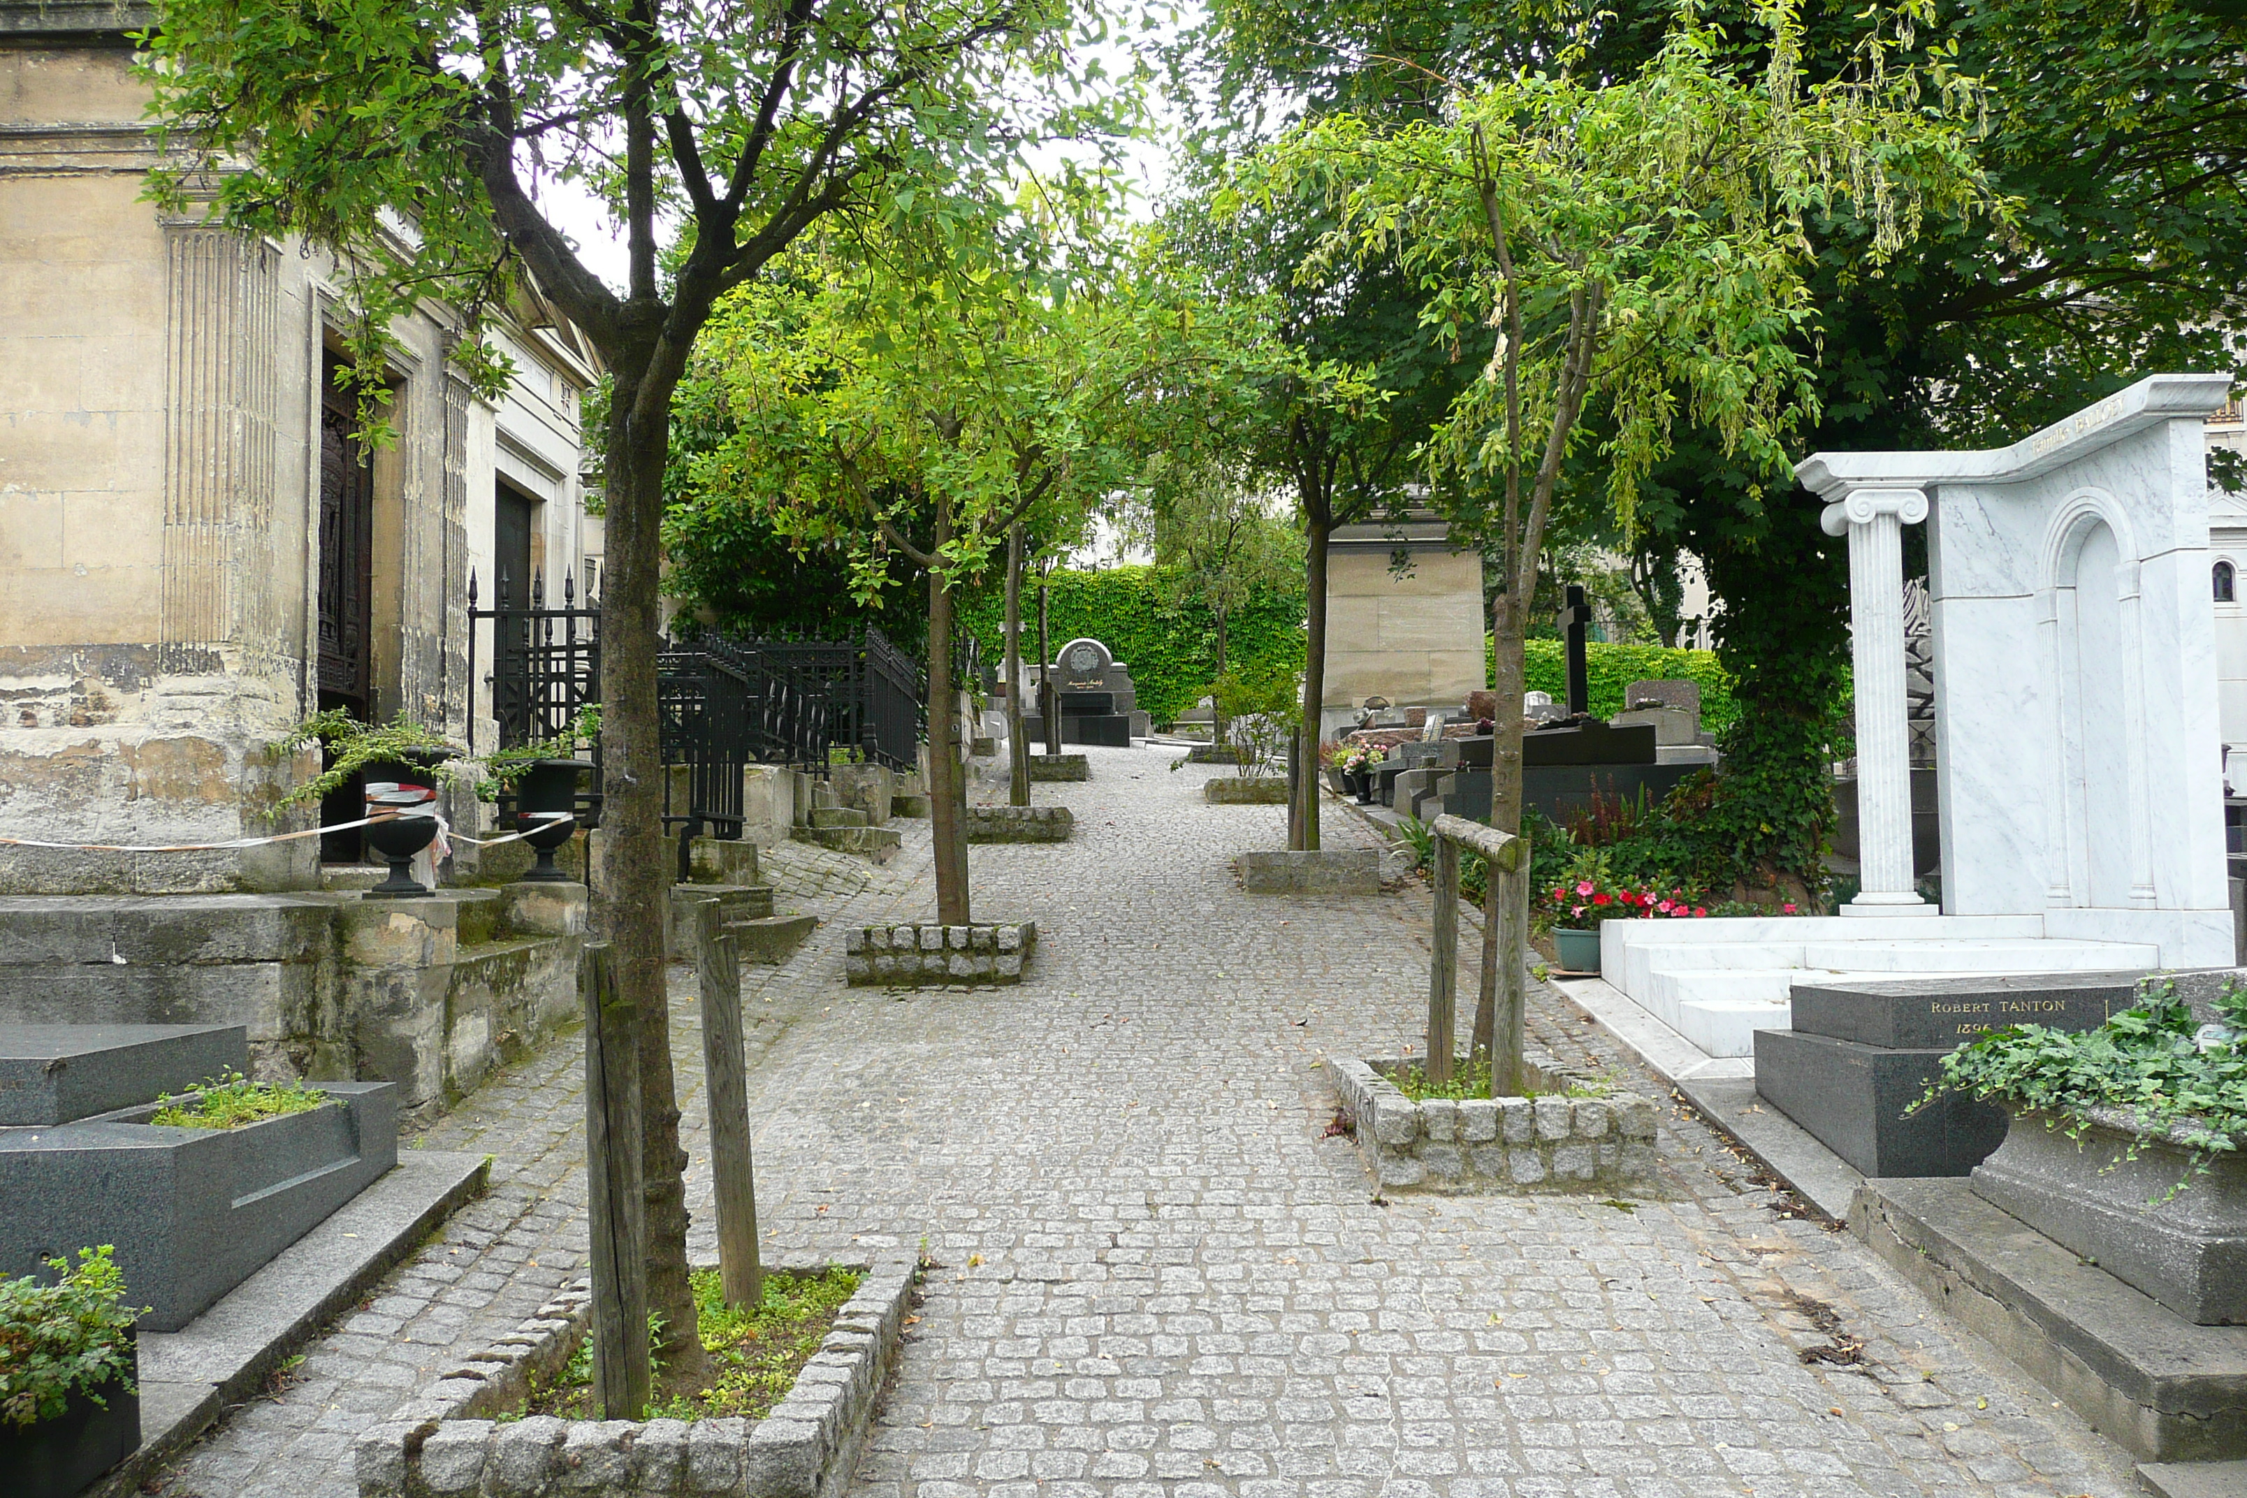
[[[719,299],[827,213],[1009,157],[1022,99],[1070,65],[1065,0],[164,0],[144,76],[173,166],[157,191],[256,234],[333,247],[360,308],[380,436],[391,317],[461,314],[454,359],[494,386],[483,310],[528,274],[613,382],[602,431],[604,835],[595,925],[640,1015],[649,1305],[674,1377],[701,1374],[685,1278],[685,1154],[663,993],[656,629],[670,400]],[[1083,74],[1081,74],[1083,76]],[[535,195],[589,182],[629,240],[604,285]],[[667,254],[670,252],[670,254]]]

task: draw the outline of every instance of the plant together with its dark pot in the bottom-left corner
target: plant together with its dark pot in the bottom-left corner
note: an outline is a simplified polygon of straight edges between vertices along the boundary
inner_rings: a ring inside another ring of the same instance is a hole
[[[54,1285],[0,1280],[0,1473],[11,1498],[76,1498],[139,1446],[126,1280],[110,1246],[52,1258]]]

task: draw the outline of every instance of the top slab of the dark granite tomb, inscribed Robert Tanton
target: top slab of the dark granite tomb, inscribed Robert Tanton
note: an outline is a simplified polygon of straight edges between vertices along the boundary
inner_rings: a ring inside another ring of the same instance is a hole
[[[1795,981],[1795,1029],[1870,1047],[1953,1049],[2007,1024],[2090,1031],[2137,1002],[2141,970]]]

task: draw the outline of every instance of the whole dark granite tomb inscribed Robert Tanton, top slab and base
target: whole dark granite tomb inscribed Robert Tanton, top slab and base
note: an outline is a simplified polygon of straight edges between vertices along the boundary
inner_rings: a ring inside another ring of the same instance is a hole
[[[1798,981],[1791,1031],[1755,1031],[1755,1091],[1870,1177],[1971,1175],[2004,1109],[1941,1094],[1941,1058],[1982,1031],[2087,1031],[2137,1002],[2141,972]]]

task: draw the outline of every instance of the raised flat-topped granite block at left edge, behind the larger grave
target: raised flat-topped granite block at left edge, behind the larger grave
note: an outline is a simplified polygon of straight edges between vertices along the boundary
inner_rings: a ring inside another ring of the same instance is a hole
[[[247,1067],[240,1024],[0,1024],[0,1127],[90,1118]]]

